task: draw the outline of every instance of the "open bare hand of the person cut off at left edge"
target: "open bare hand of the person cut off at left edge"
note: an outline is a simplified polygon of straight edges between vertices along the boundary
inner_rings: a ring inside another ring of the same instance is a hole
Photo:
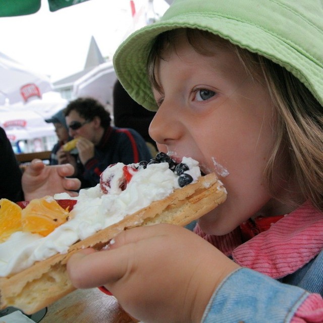
[[[77,196],[81,182],[76,178],[66,178],[74,174],[70,164],[45,166],[40,159],[34,159],[22,176],[22,188],[25,200],[40,198],[45,195],[67,192]]]

